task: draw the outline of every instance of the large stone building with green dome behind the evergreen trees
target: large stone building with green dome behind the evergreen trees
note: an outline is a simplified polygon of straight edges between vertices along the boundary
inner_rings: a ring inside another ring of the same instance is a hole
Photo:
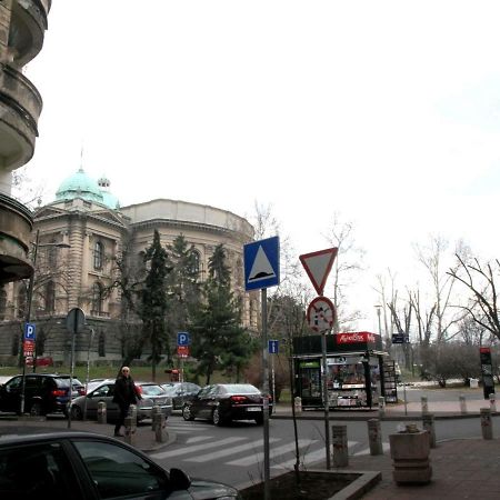
[[[74,339],[76,362],[122,359],[123,336],[134,326],[123,322],[120,292],[111,287],[118,278],[117,260],[124,251],[139,257],[151,246],[154,230],[163,246],[182,234],[194,247],[201,281],[214,248],[222,243],[233,292],[242,299],[243,324],[257,329],[259,296],[244,292],[243,283],[243,244],[253,239],[253,228],[244,218],[169,199],[121,207],[110,184],[104,176],[96,181],[80,168],[61,182],[56,200],[34,213],[38,254],[30,318],[37,324],[38,356],[69,363],[72,339],[66,318],[68,311],[80,308],[86,328]],[[21,348],[26,282],[9,283],[3,293],[0,362],[12,363]]]

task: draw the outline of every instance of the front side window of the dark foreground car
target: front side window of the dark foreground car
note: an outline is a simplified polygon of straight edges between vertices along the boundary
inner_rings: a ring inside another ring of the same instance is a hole
[[[101,499],[156,498],[154,492],[168,490],[167,474],[142,457],[116,444],[74,441]],[[159,497],[159,496],[158,496]],[[69,497],[68,497],[69,498]]]

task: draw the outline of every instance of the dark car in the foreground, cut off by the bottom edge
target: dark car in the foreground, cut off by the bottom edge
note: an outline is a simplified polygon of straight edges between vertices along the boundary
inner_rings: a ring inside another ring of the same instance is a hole
[[[29,432],[2,428],[2,499],[241,499],[228,484],[191,480],[180,469],[167,471],[140,450],[107,436]]]

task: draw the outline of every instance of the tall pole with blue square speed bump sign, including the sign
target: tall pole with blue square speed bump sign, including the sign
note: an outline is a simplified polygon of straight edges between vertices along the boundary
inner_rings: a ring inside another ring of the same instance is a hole
[[[280,284],[280,239],[279,237],[253,241],[243,246],[244,290],[261,291],[262,317],[262,368],[263,368],[263,454],[264,454],[264,500],[270,499],[269,461],[269,364],[268,364],[268,287]]]

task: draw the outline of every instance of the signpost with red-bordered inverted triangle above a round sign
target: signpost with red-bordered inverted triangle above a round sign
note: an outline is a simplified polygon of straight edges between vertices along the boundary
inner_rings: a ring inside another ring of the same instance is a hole
[[[329,407],[327,384],[327,332],[332,329],[337,321],[337,312],[333,303],[327,297],[322,297],[324,286],[327,284],[328,274],[330,274],[333,261],[336,260],[339,249],[328,248],[317,252],[303,253],[299,256],[306,272],[311,280],[314,290],[320,297],[317,297],[308,307],[307,318],[309,327],[321,333],[321,352],[322,352],[322,372],[323,372],[323,407],[324,407],[324,447],[327,452],[327,469],[331,469],[330,459],[330,426],[329,426]]]

